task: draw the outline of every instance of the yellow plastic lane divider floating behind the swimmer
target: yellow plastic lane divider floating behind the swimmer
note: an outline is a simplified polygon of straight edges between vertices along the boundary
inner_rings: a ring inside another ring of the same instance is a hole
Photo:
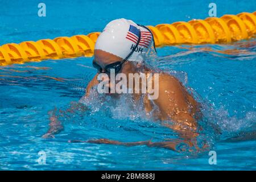
[[[147,27],[154,35],[156,47],[175,44],[230,43],[255,37],[256,11]],[[46,59],[92,57],[99,35],[100,32],[92,32],[88,35],[62,36],[53,40],[4,44],[0,46],[0,66]]]

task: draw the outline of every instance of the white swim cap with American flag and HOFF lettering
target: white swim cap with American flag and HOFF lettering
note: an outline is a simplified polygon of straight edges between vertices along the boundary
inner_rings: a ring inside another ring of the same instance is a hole
[[[100,49],[125,59],[138,43],[139,32],[141,32],[141,40],[128,60],[142,61],[144,54],[151,46],[152,35],[150,31],[138,26],[132,20],[121,18],[109,22],[100,36],[98,36],[95,49]]]

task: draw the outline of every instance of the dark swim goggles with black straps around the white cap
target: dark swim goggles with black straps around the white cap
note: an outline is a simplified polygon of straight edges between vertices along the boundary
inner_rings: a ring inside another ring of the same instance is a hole
[[[149,28],[147,28],[147,27],[145,27],[145,26],[143,26],[143,25],[141,25],[141,24],[138,24],[138,26],[144,27],[144,28],[146,28],[148,31],[150,31]],[[153,36],[153,34],[152,34],[151,31],[150,31],[150,33],[151,33],[151,35],[152,35],[152,39],[153,39],[153,41],[154,41],[154,48],[155,48],[154,36]],[[111,69],[114,69],[115,73],[118,73],[118,72],[121,70],[121,68],[122,68],[122,64],[125,63],[125,61],[127,61],[127,59],[129,59],[129,57],[134,53],[135,49],[137,49],[137,47],[138,47],[140,41],[141,41],[141,31],[139,30],[139,39],[138,39],[138,42],[137,42],[137,44],[135,45],[135,47],[133,47],[133,49],[131,50],[131,52],[129,53],[129,55],[127,55],[127,56],[125,57],[125,59],[123,59],[122,61],[117,61],[117,62],[115,62],[115,63],[111,63],[111,64],[106,65],[106,67],[105,67],[105,72],[110,73]],[[155,51],[156,51],[156,50],[155,50]],[[100,65],[98,65],[98,64],[96,63],[95,60],[93,60],[93,67],[96,68],[96,69],[98,70],[98,72],[102,73],[102,70],[103,70],[103,69],[101,68]]]

